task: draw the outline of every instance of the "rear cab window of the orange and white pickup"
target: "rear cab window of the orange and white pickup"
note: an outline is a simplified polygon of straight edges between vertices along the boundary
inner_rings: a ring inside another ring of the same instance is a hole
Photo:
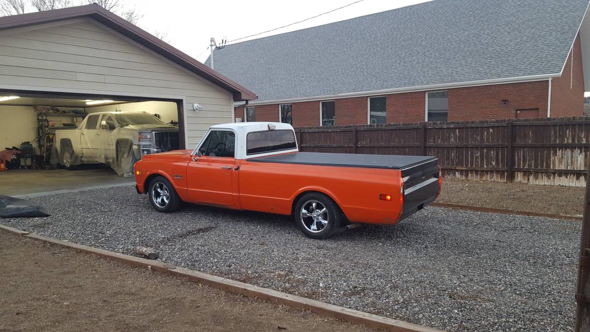
[[[297,148],[295,133],[291,130],[250,132],[246,136],[246,154],[263,154]]]

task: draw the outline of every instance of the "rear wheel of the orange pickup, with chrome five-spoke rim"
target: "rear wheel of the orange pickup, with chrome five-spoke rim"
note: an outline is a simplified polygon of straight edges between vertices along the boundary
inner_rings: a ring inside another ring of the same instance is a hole
[[[299,198],[294,216],[301,232],[316,240],[332,236],[344,220],[336,202],[322,193],[304,194]]]

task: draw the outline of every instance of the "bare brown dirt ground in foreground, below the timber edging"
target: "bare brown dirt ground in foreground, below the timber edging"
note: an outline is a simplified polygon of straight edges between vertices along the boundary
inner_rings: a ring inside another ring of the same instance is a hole
[[[0,232],[0,331],[369,331]]]

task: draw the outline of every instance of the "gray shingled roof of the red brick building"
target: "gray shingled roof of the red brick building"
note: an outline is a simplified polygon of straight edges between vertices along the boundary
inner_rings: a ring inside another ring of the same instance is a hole
[[[555,74],[587,6],[435,0],[227,45],[214,68],[260,101]]]

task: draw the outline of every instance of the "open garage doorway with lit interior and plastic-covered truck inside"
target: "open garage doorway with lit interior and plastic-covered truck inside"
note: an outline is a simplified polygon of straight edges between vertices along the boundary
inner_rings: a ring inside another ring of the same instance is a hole
[[[0,170],[90,170],[102,164],[129,177],[142,155],[184,148],[182,104],[0,90]]]

